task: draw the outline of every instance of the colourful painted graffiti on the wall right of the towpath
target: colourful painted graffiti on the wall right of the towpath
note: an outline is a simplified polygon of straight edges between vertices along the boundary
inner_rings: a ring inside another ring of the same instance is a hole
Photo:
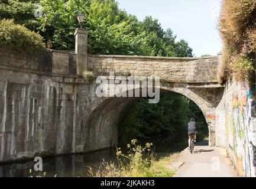
[[[252,177],[255,175],[253,165],[253,146],[250,131],[251,97],[250,92],[244,92],[242,97],[234,96],[232,113],[226,114],[226,137],[228,139],[229,155],[234,161],[240,175]]]

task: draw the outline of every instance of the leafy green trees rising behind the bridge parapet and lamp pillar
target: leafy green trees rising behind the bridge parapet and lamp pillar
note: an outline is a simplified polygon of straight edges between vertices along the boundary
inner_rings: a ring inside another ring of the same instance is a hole
[[[34,3],[43,5],[43,17],[35,18]],[[186,41],[176,41],[173,31],[164,31],[157,19],[138,21],[112,0],[2,0],[0,18],[39,31],[48,48],[74,50],[74,31],[79,27],[78,12],[85,14],[90,54],[192,57]]]

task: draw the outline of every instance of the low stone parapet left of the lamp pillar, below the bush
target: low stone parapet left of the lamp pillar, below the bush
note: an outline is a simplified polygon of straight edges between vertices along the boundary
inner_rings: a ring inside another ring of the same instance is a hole
[[[8,48],[0,48],[0,65],[47,73],[76,75],[76,54],[56,50],[22,54]]]

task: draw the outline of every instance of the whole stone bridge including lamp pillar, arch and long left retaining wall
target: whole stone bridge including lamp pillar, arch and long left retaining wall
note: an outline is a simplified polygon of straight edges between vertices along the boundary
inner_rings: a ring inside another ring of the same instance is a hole
[[[75,32],[76,52],[46,50],[24,56],[0,49],[0,162],[116,146],[118,123],[141,97],[98,97],[99,84],[83,80],[83,70],[96,76],[114,71],[116,77],[160,77],[160,92],[182,94],[200,107],[208,122],[210,145],[228,148],[221,139],[225,118],[219,120],[217,110],[223,111],[220,107],[226,103],[225,86],[218,84],[221,55],[90,55],[87,34],[84,29]],[[216,122],[221,126],[216,127]],[[216,128],[221,131],[218,135]]]

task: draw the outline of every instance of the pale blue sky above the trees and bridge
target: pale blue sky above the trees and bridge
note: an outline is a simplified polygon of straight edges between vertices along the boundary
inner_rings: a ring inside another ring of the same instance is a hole
[[[171,28],[177,40],[184,39],[193,54],[215,56],[222,49],[218,32],[221,0],[117,0],[119,8],[142,21],[158,19],[164,30]]]

